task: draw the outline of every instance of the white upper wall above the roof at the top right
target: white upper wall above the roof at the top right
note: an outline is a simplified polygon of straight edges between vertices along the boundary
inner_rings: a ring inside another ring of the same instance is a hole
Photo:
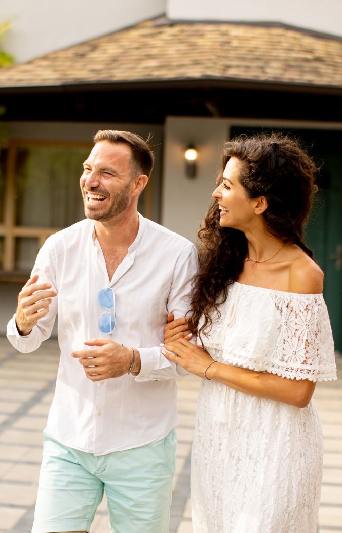
[[[341,0],[168,0],[166,12],[175,20],[282,22],[342,35]]]

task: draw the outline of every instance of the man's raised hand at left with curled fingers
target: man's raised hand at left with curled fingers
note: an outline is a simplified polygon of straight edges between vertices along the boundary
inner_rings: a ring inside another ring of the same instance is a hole
[[[46,316],[52,298],[57,296],[49,283],[37,283],[37,274],[30,278],[21,289],[18,296],[18,306],[15,312],[15,324],[20,335],[31,333],[38,320]]]

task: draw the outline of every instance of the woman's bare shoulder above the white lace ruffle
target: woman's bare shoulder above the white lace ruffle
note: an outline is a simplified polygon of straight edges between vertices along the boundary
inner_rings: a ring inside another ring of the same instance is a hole
[[[289,291],[297,294],[321,294],[324,273],[305,252],[301,252],[290,266]]]

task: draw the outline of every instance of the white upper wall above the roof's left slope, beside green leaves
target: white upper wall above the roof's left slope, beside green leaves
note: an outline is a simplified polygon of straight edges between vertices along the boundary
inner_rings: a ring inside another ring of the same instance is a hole
[[[88,41],[165,12],[165,0],[1,0],[4,49],[16,62]]]

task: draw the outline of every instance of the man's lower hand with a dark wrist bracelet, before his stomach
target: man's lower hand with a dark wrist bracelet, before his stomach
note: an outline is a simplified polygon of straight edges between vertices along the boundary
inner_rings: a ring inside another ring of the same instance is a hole
[[[72,352],[71,355],[78,359],[91,381],[120,377],[128,373],[133,359],[132,348],[106,338],[94,338],[85,341],[85,344],[94,348]],[[135,367],[132,373],[139,374],[140,354],[137,349],[134,351]]]

